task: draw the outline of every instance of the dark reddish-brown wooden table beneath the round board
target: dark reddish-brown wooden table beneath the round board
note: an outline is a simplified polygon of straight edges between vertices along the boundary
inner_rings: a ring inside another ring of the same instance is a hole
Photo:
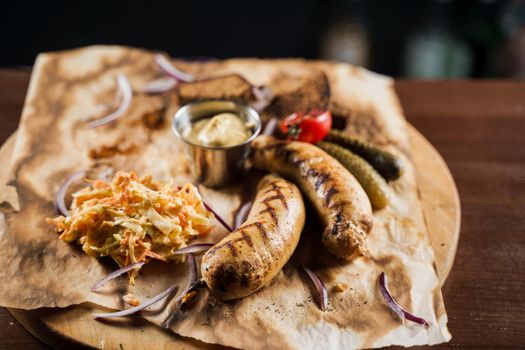
[[[29,76],[0,69],[0,143],[17,128]],[[523,349],[525,83],[397,81],[396,90],[461,198],[458,252],[443,288],[452,341],[435,348]],[[46,348],[0,308],[0,349]]]

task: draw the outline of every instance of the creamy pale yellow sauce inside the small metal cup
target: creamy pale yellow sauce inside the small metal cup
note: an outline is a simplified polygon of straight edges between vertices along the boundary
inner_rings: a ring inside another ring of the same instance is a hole
[[[201,119],[184,130],[184,137],[197,145],[206,147],[229,147],[240,145],[252,135],[252,126],[234,113],[219,113]]]

